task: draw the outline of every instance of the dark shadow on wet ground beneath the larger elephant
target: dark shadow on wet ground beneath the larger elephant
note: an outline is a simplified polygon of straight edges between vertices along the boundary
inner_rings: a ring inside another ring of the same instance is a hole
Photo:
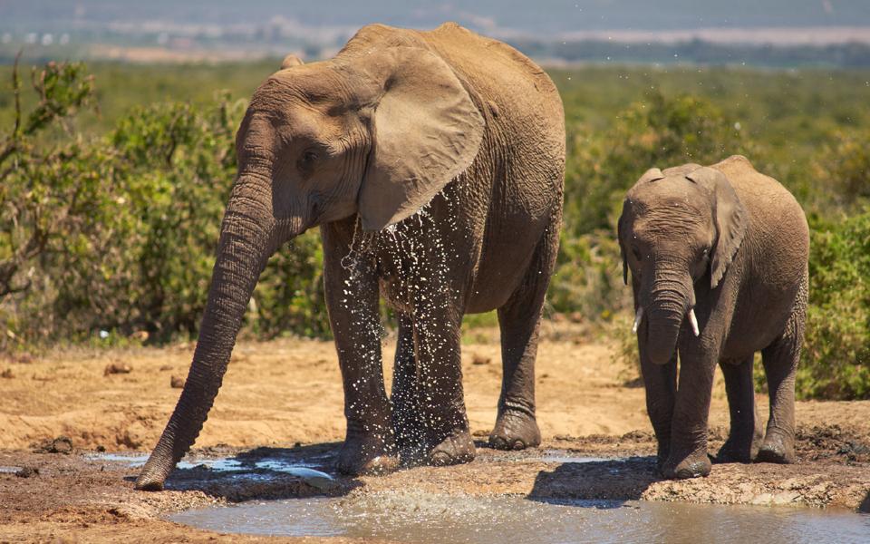
[[[220,449],[198,452],[179,463],[166,480],[167,491],[201,491],[230,502],[244,500],[336,497],[362,485],[333,472],[341,442],[258,447],[222,454]],[[135,477],[125,480],[134,481]]]

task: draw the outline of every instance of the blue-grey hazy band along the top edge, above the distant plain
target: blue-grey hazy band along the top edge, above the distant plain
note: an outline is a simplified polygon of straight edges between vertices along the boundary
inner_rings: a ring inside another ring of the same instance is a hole
[[[263,23],[275,15],[312,26],[372,22],[565,33],[701,27],[870,25],[870,0],[0,0],[0,25],[79,20]],[[34,29],[35,30],[35,29]]]

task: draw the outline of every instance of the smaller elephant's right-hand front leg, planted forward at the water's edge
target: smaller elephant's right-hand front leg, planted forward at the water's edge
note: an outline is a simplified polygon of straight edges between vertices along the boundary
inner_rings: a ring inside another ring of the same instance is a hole
[[[662,466],[665,478],[697,478],[710,474],[707,420],[717,356],[680,354],[680,386],[673,405],[671,452]]]

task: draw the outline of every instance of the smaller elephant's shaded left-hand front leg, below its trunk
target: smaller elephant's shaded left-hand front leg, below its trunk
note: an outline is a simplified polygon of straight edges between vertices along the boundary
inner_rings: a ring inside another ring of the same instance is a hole
[[[646,356],[645,345],[645,340],[639,340],[641,374],[646,389],[646,413],[650,416],[652,431],[655,432],[658,442],[656,465],[661,471],[671,454],[673,406],[677,394],[677,354],[674,353],[667,364],[654,364]]]

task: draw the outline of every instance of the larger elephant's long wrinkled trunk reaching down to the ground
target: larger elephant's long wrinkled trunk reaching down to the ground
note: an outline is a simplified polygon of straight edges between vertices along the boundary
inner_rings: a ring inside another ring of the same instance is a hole
[[[158,491],[197,439],[218,394],[248,301],[275,244],[271,201],[237,183],[227,204],[197,348],[179,402],[145,463],[136,489]]]

